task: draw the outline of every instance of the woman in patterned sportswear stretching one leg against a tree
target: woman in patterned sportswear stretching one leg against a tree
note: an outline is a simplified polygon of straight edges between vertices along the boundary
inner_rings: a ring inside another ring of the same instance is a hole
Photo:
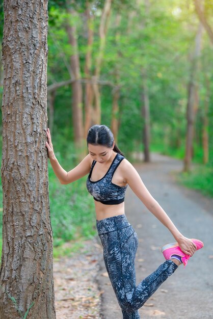
[[[109,278],[121,307],[123,319],[140,318],[138,309],[154,291],[196,250],[203,247],[199,240],[184,237],[163,208],[146,189],[135,168],[115,145],[111,130],[94,125],[88,131],[89,154],[71,171],[58,163],[47,129],[46,147],[51,166],[62,184],[68,184],[87,174],[87,189],[94,197],[96,225],[103,246],[103,257]],[[176,243],[162,248],[166,261],[136,286],[135,255],[138,237],[128,223],[124,211],[127,185],[152,214],[172,233]]]

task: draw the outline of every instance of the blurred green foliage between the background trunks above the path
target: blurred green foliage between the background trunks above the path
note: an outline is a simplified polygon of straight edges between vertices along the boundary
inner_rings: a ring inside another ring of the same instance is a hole
[[[211,2],[205,0],[205,14],[208,22],[212,21]],[[82,4],[81,4],[82,5]],[[99,49],[99,24],[103,2],[93,2],[94,43],[92,46],[92,71]],[[93,8],[93,9],[92,9]],[[78,51],[84,76],[85,54],[87,52],[87,25],[84,16],[85,7],[76,9],[74,23],[77,28]],[[52,10],[52,8],[51,8]],[[61,81],[69,78],[65,66],[68,63],[71,48],[69,47],[61,8],[54,8],[55,24],[51,25],[49,35],[49,68],[48,78]],[[92,11],[93,10],[93,11]],[[118,21],[118,15],[120,22]],[[195,45],[195,35],[199,20],[193,2],[184,0],[161,0],[149,2],[116,1],[112,5],[111,18],[107,33],[101,79],[120,86],[119,114],[120,122],[118,145],[127,155],[141,150],[144,120],[141,115],[142,79],[146,77],[150,102],[150,125],[152,149],[165,154],[184,157],[186,134],[186,110],[190,63],[189,56]],[[59,52],[63,51],[62,54]],[[52,53],[51,53],[52,52]],[[202,130],[204,105],[208,98],[208,117],[213,116],[212,83],[213,68],[209,39],[203,32],[202,55],[196,81],[199,86],[199,109],[195,123],[195,141],[193,161],[202,163]],[[52,71],[54,70],[54,72]],[[57,72],[55,72],[57,70]],[[56,78],[56,75],[58,78]],[[209,90],[207,90],[209,81]],[[210,93],[209,93],[210,92]],[[113,89],[100,87],[102,123],[111,125]],[[209,96],[207,96],[209,94]],[[68,87],[57,91],[55,100],[55,129],[63,138],[72,141],[71,123],[71,90]],[[62,107],[63,105],[63,107]],[[62,131],[62,128],[64,132]],[[209,125],[209,149],[213,145],[212,125]],[[74,150],[73,150],[74,151]],[[213,166],[213,154],[209,152],[209,165]]]

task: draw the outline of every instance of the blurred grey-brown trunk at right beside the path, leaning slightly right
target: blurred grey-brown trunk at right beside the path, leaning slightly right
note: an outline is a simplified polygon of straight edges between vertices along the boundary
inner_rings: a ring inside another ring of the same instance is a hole
[[[195,50],[193,52],[192,62],[191,62],[191,75],[188,87],[188,103],[187,103],[187,138],[185,143],[185,158],[184,158],[184,168],[185,172],[190,170],[192,155],[193,155],[193,131],[195,122],[195,111],[197,109],[198,103],[198,87],[195,83],[196,72],[198,68],[198,58],[201,52],[201,39],[202,39],[202,25],[199,24],[198,32],[195,39]]]

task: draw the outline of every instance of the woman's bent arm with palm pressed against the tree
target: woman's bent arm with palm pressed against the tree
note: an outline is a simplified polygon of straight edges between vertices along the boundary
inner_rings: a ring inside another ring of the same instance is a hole
[[[52,169],[54,170],[54,173],[56,174],[61,184],[69,184],[85,176],[86,174],[90,172],[91,156],[89,154],[83,159],[81,163],[79,163],[71,171],[69,172],[65,171],[63,167],[59,164],[58,159],[56,158],[54,154],[54,148],[52,146],[49,128],[47,128],[46,135],[48,139],[48,142],[46,142],[46,147],[48,149],[49,160],[50,160]]]

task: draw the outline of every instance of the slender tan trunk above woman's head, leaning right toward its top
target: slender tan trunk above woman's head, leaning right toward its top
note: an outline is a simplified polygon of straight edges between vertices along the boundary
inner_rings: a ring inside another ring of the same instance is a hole
[[[93,91],[94,91],[94,112],[93,116],[93,123],[100,124],[101,121],[101,106],[100,106],[100,92],[98,86],[98,79],[100,76],[100,68],[103,60],[103,52],[105,48],[105,41],[106,35],[108,30],[108,22],[110,18],[111,12],[111,5],[112,0],[105,0],[104,7],[101,15],[100,27],[99,27],[99,36],[100,36],[100,45],[98,56],[96,60],[95,72],[94,72],[94,84],[93,84]]]

